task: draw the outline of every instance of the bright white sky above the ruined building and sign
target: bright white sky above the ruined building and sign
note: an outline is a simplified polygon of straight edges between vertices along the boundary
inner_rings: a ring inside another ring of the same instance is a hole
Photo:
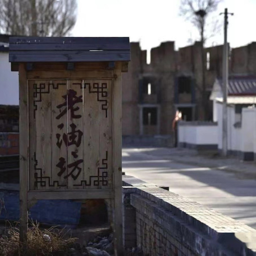
[[[129,36],[149,50],[164,41],[175,48],[188,45],[198,32],[179,16],[180,0],[77,0],[78,16],[72,36]],[[214,19],[223,23],[224,8],[229,16],[228,41],[238,47],[256,41],[256,0],[223,0]],[[208,45],[223,44],[223,28]]]

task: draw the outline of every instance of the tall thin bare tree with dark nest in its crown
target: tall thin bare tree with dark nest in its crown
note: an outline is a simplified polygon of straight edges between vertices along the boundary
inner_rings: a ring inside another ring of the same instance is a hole
[[[198,29],[201,42],[201,61],[202,61],[202,88],[198,88],[201,94],[201,104],[203,107],[204,120],[207,119],[208,102],[205,85],[205,56],[204,45],[206,39],[214,36],[219,29],[218,20],[210,20],[209,14],[217,10],[221,0],[181,0],[180,15],[190,21]],[[209,28],[210,27],[210,28]],[[206,31],[207,30],[207,31]],[[207,32],[207,35],[206,35]]]

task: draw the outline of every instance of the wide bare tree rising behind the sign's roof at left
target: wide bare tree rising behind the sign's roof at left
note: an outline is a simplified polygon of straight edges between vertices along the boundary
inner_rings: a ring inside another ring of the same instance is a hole
[[[76,0],[0,0],[0,31],[17,36],[66,36],[76,23]]]

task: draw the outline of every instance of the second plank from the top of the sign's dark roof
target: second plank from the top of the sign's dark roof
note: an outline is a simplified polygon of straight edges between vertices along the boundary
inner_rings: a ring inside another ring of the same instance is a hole
[[[32,44],[32,43],[24,43],[24,44],[10,44],[10,51],[26,51],[26,50],[129,50],[130,44],[129,42],[124,43],[106,43],[106,44],[92,44],[92,43],[79,43],[79,44],[58,44],[58,43],[50,43],[50,44]]]

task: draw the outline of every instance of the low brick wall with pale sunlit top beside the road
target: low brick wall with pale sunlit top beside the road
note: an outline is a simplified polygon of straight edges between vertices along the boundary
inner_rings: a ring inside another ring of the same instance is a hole
[[[123,176],[125,247],[139,246],[150,256],[256,255],[255,229],[188,198],[129,180]]]

